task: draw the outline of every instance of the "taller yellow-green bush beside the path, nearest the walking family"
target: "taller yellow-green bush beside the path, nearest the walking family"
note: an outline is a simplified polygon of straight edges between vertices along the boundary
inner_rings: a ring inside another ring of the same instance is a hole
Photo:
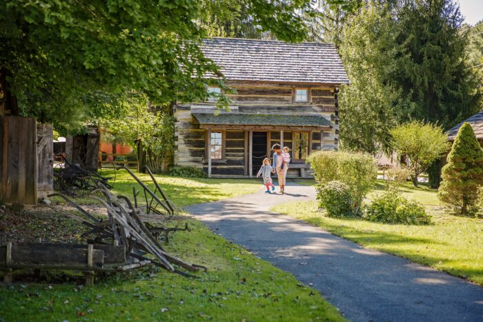
[[[369,154],[317,151],[308,157],[307,162],[311,164],[315,179],[322,185],[330,181],[348,185],[356,212],[377,178],[377,165]]]

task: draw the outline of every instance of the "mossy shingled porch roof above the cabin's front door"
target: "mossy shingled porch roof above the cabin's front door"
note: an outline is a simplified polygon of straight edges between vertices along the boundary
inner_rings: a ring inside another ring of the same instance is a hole
[[[248,114],[248,113],[193,113],[201,125],[269,125],[333,127],[322,115]]]

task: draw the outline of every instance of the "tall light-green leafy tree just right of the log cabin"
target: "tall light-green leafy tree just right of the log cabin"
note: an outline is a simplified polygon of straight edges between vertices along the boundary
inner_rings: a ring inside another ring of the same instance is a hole
[[[340,140],[347,150],[387,152],[401,91],[388,84],[397,68],[396,22],[386,6],[369,3],[349,19],[340,47],[350,85],[339,93]]]

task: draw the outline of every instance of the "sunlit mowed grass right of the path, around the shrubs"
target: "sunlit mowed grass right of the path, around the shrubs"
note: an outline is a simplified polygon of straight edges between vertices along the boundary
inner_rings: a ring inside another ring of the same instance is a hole
[[[377,190],[384,188],[383,182]],[[368,198],[373,198],[377,190]],[[289,203],[273,208],[322,227],[337,236],[368,248],[405,257],[483,285],[483,219],[447,214],[436,190],[422,185],[402,188],[405,197],[415,199],[431,214],[431,225],[388,225],[357,219],[331,219],[319,211],[316,201]]]

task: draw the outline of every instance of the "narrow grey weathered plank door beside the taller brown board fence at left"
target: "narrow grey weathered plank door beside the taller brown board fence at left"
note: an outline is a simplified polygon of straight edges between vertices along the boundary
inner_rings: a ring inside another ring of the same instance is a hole
[[[37,198],[54,190],[54,139],[52,124],[37,124]]]

